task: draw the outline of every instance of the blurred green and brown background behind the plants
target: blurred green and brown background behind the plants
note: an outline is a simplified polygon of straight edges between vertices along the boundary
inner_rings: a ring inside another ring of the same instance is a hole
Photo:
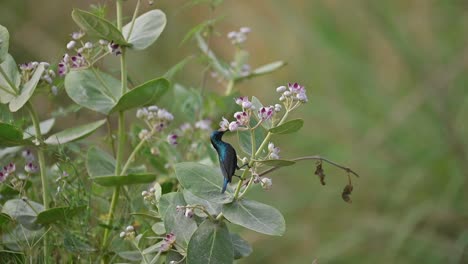
[[[277,171],[273,190],[254,195],[283,212],[286,233],[243,230],[254,252],[240,263],[468,263],[466,1],[231,0],[214,12],[182,8],[186,2],[143,1],[163,9],[168,25],[149,50],[129,55],[132,78],[162,75],[195,53],[193,42],[178,46],[185,33],[224,15],[213,38],[220,57],[229,61],[234,51],[226,33],[249,26],[253,67],[288,62],[242,83],[243,95],[274,103],[277,86],[306,85],[309,103],[295,114],[306,126],[275,140],[282,157],[319,154],[361,175],[347,204],[338,169],[325,165],[326,186],[313,162]],[[77,30],[72,7],[98,3],[114,15],[113,1],[2,1],[10,52],[18,63],[58,62]],[[133,5],[126,2],[128,16]],[[192,63],[179,80],[197,87],[202,70]],[[224,90],[218,86],[208,89]]]

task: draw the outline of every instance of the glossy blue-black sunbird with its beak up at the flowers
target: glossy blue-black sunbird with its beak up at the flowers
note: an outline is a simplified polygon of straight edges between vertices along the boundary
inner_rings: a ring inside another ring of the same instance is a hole
[[[216,149],[219,158],[219,166],[224,176],[223,190],[221,193],[226,191],[228,183],[232,181],[232,176],[239,169],[237,166],[237,154],[236,150],[231,144],[223,141],[223,135],[226,131],[215,130],[211,133],[211,144]]]

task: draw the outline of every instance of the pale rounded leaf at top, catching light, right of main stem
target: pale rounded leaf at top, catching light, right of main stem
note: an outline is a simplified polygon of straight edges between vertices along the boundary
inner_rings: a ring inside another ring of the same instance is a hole
[[[161,35],[166,26],[166,15],[159,9],[150,10],[135,19],[130,37],[132,22],[122,28],[122,33],[131,49],[142,50],[153,44]]]

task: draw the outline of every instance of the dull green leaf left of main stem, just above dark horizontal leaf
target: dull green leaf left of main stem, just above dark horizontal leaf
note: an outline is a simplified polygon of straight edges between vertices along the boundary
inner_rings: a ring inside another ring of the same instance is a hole
[[[86,169],[89,176],[112,175],[115,173],[115,159],[98,147],[91,147],[86,155]]]

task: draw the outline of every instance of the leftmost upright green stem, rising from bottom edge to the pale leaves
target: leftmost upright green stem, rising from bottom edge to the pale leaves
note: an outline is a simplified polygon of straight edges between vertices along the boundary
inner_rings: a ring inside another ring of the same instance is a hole
[[[37,148],[37,157],[39,160],[39,170],[41,174],[41,184],[42,184],[42,203],[44,205],[44,210],[49,209],[49,190],[48,187],[49,185],[47,184],[47,179],[46,179],[46,163],[45,163],[45,157],[44,157],[44,150],[42,149],[42,134],[41,134],[41,126],[39,123],[39,118],[37,117],[36,111],[34,111],[34,108],[31,104],[31,102],[26,103],[26,108],[29,111],[29,115],[31,116],[31,120],[34,125],[34,130],[36,133],[36,139],[39,140],[39,148]],[[49,254],[49,239],[48,239],[48,234],[44,235],[44,263],[48,263],[47,259],[50,256]]]

